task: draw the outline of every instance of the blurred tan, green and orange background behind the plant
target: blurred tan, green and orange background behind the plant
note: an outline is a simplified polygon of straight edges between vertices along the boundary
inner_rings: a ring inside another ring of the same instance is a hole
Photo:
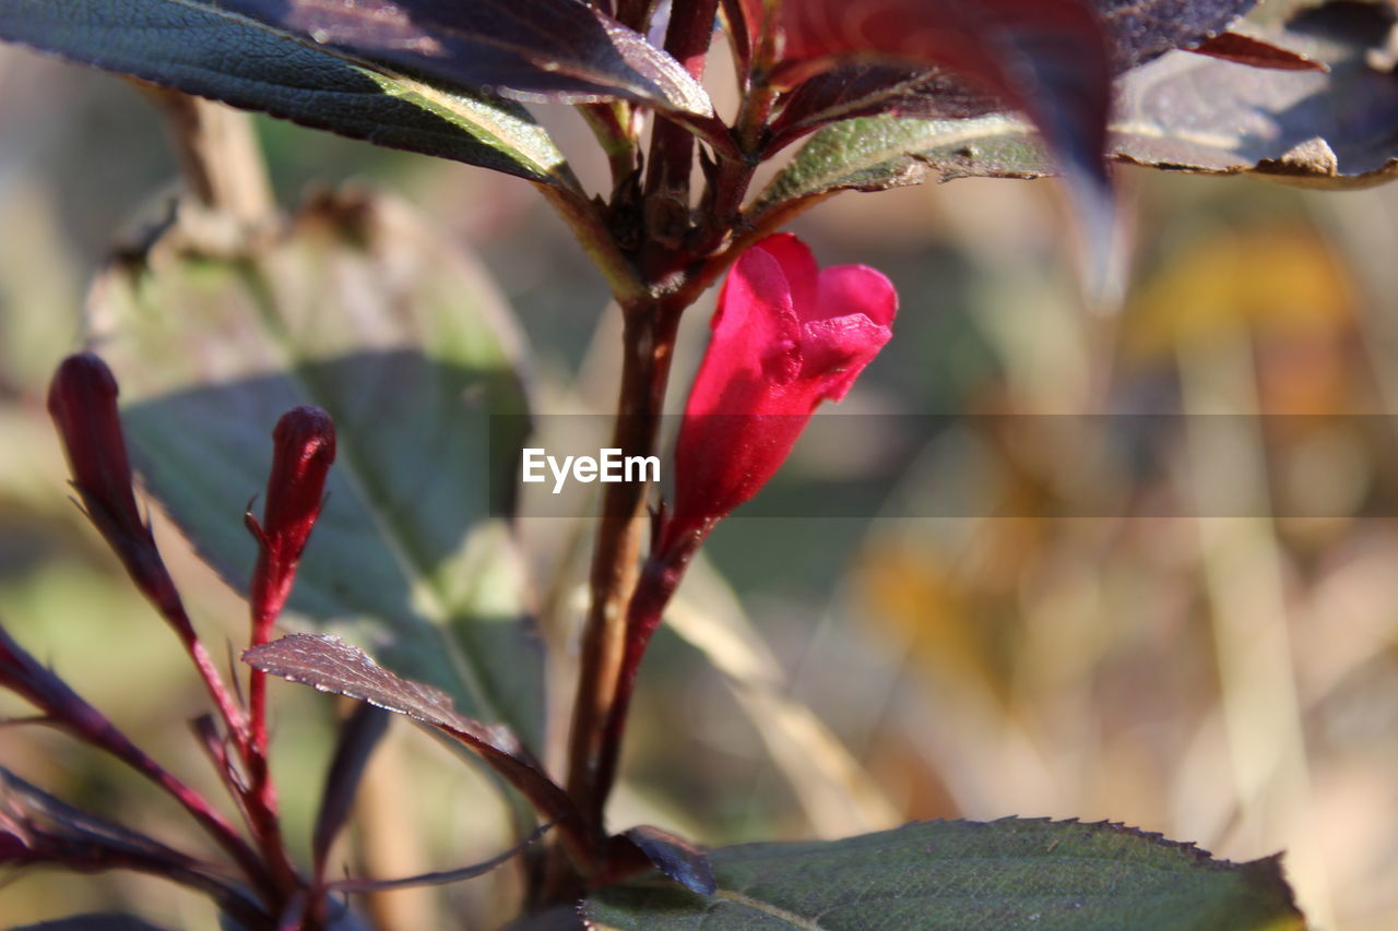
[[[545,116],[596,187],[582,124]],[[281,204],[345,183],[403,197],[495,277],[540,410],[610,407],[614,312],[528,185],[254,122]],[[1398,927],[1398,187],[1120,180],[1117,315],[1083,309],[1050,182],[844,194],[798,221],[822,263],[886,273],[902,310],[829,414],[849,422],[815,431],[770,493],[868,503],[740,512],[713,535],[643,672],[615,823],[721,844],[1110,819],[1230,860],[1286,851],[1314,927]],[[200,689],[70,503],[42,404],[91,274],[178,183],[131,87],[0,48],[0,619],[199,781],[183,724]],[[677,410],[712,302],[686,322]],[[932,415],[958,418],[898,435]],[[544,632],[563,682],[583,556],[527,506],[520,534],[535,584],[562,593]],[[242,639],[236,597],[161,538],[208,642]],[[274,702],[303,850],[336,709],[292,686]],[[62,735],[3,728],[0,765],[199,849],[165,800]],[[502,846],[493,790],[396,724],[343,858],[398,875]],[[397,928],[493,927],[514,883],[506,868],[375,907]],[[84,909],[212,927],[150,878],[0,888],[7,924]]]

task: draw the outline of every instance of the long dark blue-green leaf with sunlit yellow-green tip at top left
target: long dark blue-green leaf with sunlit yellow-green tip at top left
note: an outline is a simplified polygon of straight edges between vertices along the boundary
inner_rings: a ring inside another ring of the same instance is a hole
[[[0,38],[377,145],[575,185],[517,103],[411,80],[207,0],[8,0]]]

